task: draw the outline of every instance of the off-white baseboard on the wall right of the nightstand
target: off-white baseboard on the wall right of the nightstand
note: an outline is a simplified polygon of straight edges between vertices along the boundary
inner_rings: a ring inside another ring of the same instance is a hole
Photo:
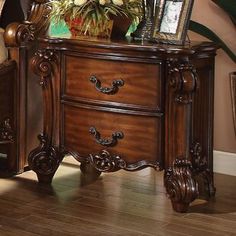
[[[214,150],[213,156],[214,172],[236,176],[236,153]]]

